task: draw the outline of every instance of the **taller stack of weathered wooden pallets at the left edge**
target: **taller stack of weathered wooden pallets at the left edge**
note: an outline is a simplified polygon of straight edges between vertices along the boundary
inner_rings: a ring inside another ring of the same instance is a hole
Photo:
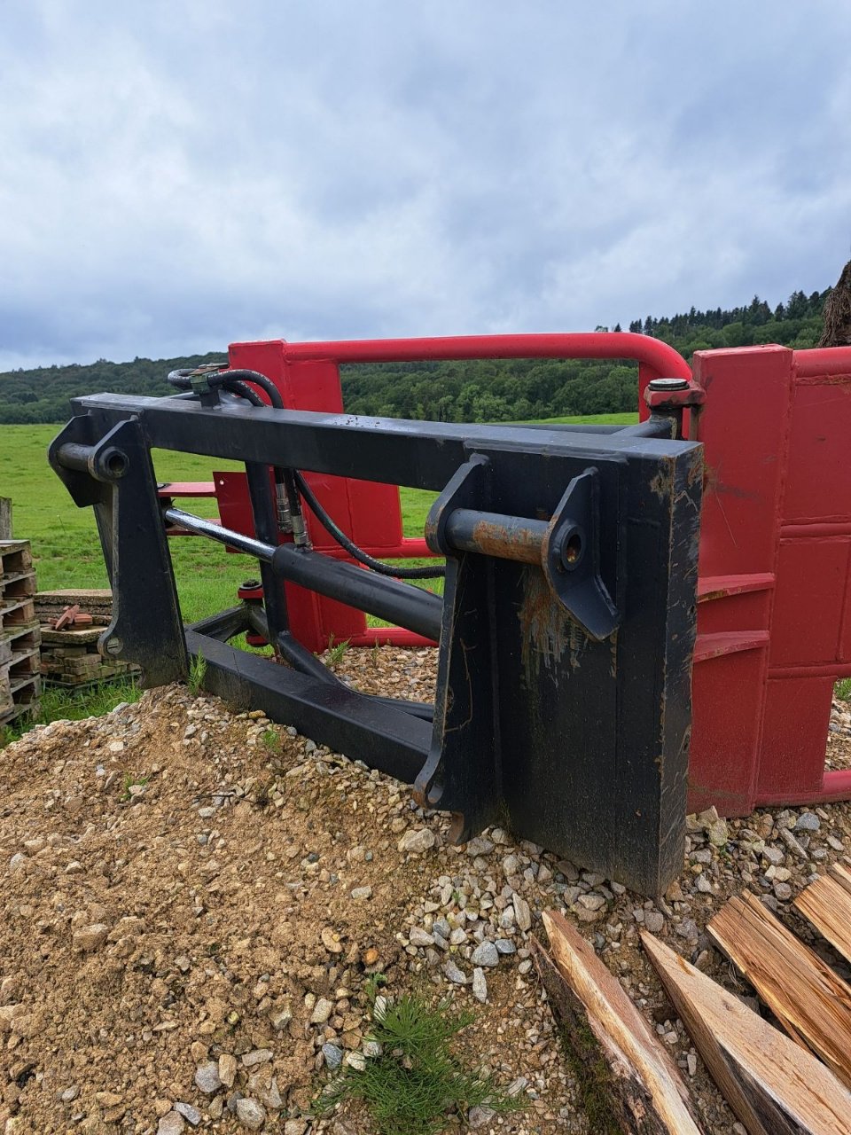
[[[0,540],[0,724],[37,707],[39,620],[28,540]]]

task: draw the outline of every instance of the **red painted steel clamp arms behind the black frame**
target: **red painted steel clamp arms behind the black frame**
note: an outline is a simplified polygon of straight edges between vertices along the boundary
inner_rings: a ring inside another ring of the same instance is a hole
[[[233,368],[270,378],[287,409],[326,413],[343,412],[343,363],[487,358],[634,359],[642,414],[647,401],[679,402],[688,407],[686,436],[705,445],[690,809],[745,815],[759,805],[851,798],[851,771],[825,771],[833,687],[851,675],[851,348],[698,352],[693,376],[666,344],[622,333],[273,340],[229,352]],[[648,390],[654,378],[684,380],[683,388]],[[403,536],[396,486],[307,480],[371,555],[430,555],[424,540]],[[163,495],[214,495],[222,523],[251,535],[243,474],[172,484]],[[319,550],[347,558],[306,520]],[[368,629],[360,611],[286,589],[293,633],[311,650],[331,637],[355,646],[426,641],[398,628]]]

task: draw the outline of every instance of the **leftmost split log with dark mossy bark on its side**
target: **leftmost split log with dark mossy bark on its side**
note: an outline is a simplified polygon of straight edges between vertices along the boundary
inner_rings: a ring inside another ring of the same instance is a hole
[[[623,1130],[703,1135],[676,1065],[617,980],[564,915],[547,910],[544,925],[553,958],[533,942],[541,981],[579,1058],[603,1056]]]

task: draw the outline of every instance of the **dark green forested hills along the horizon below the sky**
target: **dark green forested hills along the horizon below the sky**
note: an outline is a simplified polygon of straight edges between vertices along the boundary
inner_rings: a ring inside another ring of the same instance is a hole
[[[770,308],[759,296],[743,308],[690,311],[635,319],[629,330],[669,343],[691,359],[713,347],[780,343],[812,347],[823,326],[831,288],[807,296],[794,292]],[[598,327],[599,331],[620,331]],[[0,423],[61,422],[69,398],[82,394],[163,395],[166,376],[178,367],[225,361],[225,351],[185,359],[104,359],[89,365],[42,367],[0,373]],[[563,414],[634,410],[637,367],[617,360],[482,360],[345,367],[346,410],[356,414],[432,421],[522,421]]]

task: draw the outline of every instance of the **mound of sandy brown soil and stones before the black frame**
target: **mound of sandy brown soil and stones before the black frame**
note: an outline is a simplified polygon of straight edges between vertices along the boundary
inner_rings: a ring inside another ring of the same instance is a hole
[[[403,785],[183,688],[34,730],[3,750],[0,792],[0,1117],[16,1135],[155,1132],[175,1104],[245,1130],[241,1096],[298,1116],[317,1071],[363,1044],[364,981],[428,983],[410,934],[436,952],[441,893],[465,982],[473,906],[514,909],[502,883],[470,886],[445,818]],[[503,1129],[564,1129],[524,932],[500,934],[477,1056],[538,1098],[533,1127]]]

